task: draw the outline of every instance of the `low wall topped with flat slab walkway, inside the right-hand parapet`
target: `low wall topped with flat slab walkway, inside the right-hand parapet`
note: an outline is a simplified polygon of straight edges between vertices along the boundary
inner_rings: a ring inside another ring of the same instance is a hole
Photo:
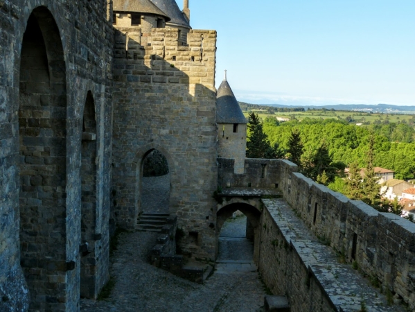
[[[286,295],[291,311],[405,311],[342,263],[284,200],[263,200],[259,271],[274,295]]]

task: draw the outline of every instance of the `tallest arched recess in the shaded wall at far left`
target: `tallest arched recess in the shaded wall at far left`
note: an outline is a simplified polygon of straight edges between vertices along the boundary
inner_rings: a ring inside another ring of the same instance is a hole
[[[19,80],[19,238],[30,310],[58,309],[66,295],[66,77],[55,19],[45,7],[35,8]]]

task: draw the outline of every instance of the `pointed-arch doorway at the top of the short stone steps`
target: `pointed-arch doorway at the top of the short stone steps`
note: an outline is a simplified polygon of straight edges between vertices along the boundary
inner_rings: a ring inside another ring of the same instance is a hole
[[[150,150],[143,158],[141,173],[141,212],[168,214],[170,170],[166,157],[157,149]]]

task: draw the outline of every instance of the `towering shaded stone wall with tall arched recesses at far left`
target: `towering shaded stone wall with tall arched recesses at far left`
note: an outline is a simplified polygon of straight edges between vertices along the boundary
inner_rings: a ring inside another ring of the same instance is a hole
[[[26,311],[29,302],[30,310],[79,309],[83,214],[93,216],[85,233],[95,261],[93,297],[107,281],[110,12],[106,0],[0,1],[0,311]],[[88,91],[96,202],[81,208]]]

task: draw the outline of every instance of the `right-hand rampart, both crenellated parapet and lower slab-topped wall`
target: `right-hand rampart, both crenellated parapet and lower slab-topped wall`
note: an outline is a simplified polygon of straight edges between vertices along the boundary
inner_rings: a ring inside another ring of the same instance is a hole
[[[218,161],[218,184],[223,193],[227,189],[231,193],[237,193],[238,189],[249,193],[249,189],[255,192],[258,188],[272,187],[282,193],[284,200],[276,200],[277,205],[273,200],[263,200],[258,227],[261,234],[260,239],[256,238],[261,244],[256,253],[265,283],[276,295],[290,298],[292,311],[360,309],[361,299],[355,298],[360,293],[353,294],[346,287],[348,284],[337,283],[328,267],[337,266],[338,260],[330,258],[330,252],[324,250],[328,247],[319,241],[341,254],[346,263],[355,261],[360,272],[372,281],[377,279],[383,293],[390,292],[394,301],[403,301],[409,309],[415,309],[414,223],[394,214],[379,213],[363,202],[348,200],[297,173],[297,166],[285,160],[246,159],[244,174],[233,173],[233,159]],[[226,205],[224,202],[218,206]],[[290,214],[283,216],[284,209],[294,211],[295,218],[299,216],[308,229],[303,231],[303,224],[291,222],[290,218],[294,217]],[[312,232],[319,241],[308,239],[301,231]],[[315,254],[317,259],[310,254]],[[338,274],[343,276],[344,269],[339,269]],[[345,280],[353,286],[352,279]],[[355,283],[362,287],[364,281]],[[333,288],[333,285],[338,286]],[[363,294],[363,300],[372,305],[379,301],[378,295],[369,293]],[[371,309],[395,311],[398,308],[382,303]]]

